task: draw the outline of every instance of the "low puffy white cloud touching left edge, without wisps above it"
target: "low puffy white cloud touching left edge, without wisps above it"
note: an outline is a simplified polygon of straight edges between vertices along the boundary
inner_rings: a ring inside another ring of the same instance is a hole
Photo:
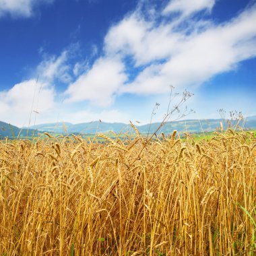
[[[0,92],[1,120],[17,125],[28,125],[30,113],[40,115],[54,107],[54,90],[51,86],[36,82],[36,79],[15,84],[13,88]]]

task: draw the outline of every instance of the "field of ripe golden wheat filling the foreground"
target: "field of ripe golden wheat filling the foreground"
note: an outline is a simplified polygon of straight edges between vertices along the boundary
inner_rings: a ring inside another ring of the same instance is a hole
[[[255,255],[256,136],[0,142],[0,255]]]

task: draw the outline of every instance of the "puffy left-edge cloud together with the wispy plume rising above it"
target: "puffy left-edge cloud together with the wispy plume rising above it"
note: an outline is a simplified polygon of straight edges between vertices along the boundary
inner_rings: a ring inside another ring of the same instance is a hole
[[[71,83],[72,69],[69,64],[73,47],[64,50],[59,56],[46,55],[34,71],[34,77],[15,84],[7,91],[0,91],[1,120],[20,126],[28,125],[32,116],[39,113],[38,119],[46,121],[56,113],[61,95],[56,97],[55,83]],[[11,115],[13,113],[13,115]],[[57,115],[55,116],[55,118]],[[54,120],[54,119],[53,119]],[[31,125],[31,123],[30,123]]]

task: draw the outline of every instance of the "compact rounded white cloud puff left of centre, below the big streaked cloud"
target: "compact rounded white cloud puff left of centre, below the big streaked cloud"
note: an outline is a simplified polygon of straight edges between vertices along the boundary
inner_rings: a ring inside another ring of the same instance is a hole
[[[88,72],[69,85],[65,102],[89,100],[99,106],[109,105],[127,79],[123,72],[124,65],[119,59],[98,59]]]

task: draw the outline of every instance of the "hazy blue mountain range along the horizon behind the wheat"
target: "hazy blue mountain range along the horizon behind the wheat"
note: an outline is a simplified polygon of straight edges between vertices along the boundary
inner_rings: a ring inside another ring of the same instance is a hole
[[[190,133],[200,133],[207,131],[216,131],[217,127],[220,127],[220,122],[222,122],[224,129],[228,127],[227,121],[223,119],[189,119],[182,121],[172,121],[166,122],[159,129],[158,132],[163,132],[166,135],[172,133],[173,130],[179,132],[189,131]],[[230,121],[231,122],[231,121]],[[231,122],[236,123],[235,121]],[[156,129],[160,126],[160,123],[152,123],[147,125],[135,124],[137,129],[142,134],[154,133]],[[246,121],[241,121],[239,125],[245,129],[256,129],[256,115],[253,117],[248,117]],[[31,127],[25,127],[23,129],[16,127],[14,125],[9,125],[7,123],[0,121],[0,139],[4,137],[26,137],[38,135],[47,131],[49,133],[79,133],[79,134],[95,134],[95,133],[108,133],[113,131],[115,133],[120,132],[134,132],[131,125],[125,123],[106,123],[102,121],[92,121],[90,123],[45,123],[41,125],[33,125]]]

